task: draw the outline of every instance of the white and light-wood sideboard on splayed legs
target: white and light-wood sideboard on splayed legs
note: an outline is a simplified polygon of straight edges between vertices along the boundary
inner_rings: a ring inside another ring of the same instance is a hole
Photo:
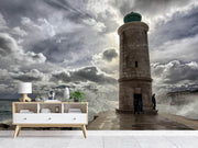
[[[69,112],[70,109],[80,112]],[[44,110],[51,112],[43,113]],[[81,127],[85,138],[87,137],[87,102],[13,102],[12,112],[12,124],[16,125],[14,138],[21,127]]]

